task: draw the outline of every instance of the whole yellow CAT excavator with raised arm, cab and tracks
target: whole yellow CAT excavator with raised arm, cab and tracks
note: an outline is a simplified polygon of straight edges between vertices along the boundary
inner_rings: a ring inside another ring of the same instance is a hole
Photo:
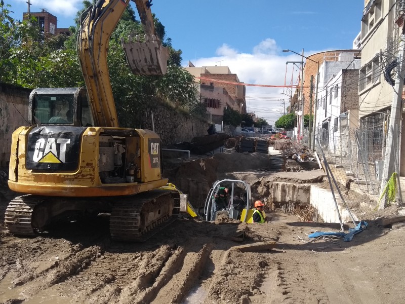
[[[12,135],[9,187],[26,194],[5,213],[12,234],[34,235],[69,213],[109,212],[113,239],[139,241],[178,213],[180,194],[161,177],[159,136],[118,126],[107,49],[129,1],[99,0],[82,15],[77,50],[87,90],[31,92],[31,126]],[[146,35],[123,41],[129,66],[164,74],[169,52],[154,35],[151,1],[134,2]]]

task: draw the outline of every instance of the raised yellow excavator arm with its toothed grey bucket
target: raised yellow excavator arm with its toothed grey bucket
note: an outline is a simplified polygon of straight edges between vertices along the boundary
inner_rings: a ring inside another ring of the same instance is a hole
[[[150,1],[134,0],[145,29],[145,42],[137,37],[135,42],[123,47],[127,61],[135,74],[164,74],[169,52],[154,35]],[[100,127],[118,127],[118,117],[112,95],[107,66],[108,42],[112,31],[123,15],[130,0],[98,0],[80,18],[77,52],[82,66],[94,122]]]

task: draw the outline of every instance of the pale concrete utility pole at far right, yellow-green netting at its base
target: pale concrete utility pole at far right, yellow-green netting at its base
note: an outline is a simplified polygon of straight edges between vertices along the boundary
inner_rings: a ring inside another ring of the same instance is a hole
[[[402,10],[404,8],[402,7]],[[400,27],[399,30],[402,30]],[[402,114],[402,90],[403,90],[403,78],[405,77],[405,35],[403,32],[399,34],[399,46],[398,46],[398,69],[396,72],[396,80],[394,85],[394,93],[391,105],[391,117],[389,120],[387,145],[385,148],[384,168],[381,179],[380,196],[383,193],[386,184],[392,174],[395,172],[395,149],[398,151],[399,138],[394,134],[396,128],[401,126],[401,114]],[[387,205],[387,195],[380,200],[378,209],[384,209]]]

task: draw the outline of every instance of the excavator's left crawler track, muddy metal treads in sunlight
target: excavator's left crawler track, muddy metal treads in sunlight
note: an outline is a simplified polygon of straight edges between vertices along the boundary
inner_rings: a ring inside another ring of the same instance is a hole
[[[31,195],[16,197],[7,206],[4,222],[10,233],[17,236],[35,236],[31,225],[35,205],[41,203]]]

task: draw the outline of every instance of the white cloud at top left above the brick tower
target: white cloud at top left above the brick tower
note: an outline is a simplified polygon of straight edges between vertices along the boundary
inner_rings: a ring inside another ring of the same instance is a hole
[[[26,0],[17,0],[26,3]],[[82,8],[82,0],[30,0],[33,8],[46,9],[51,14],[73,17]],[[32,9],[31,9],[32,11]]]

